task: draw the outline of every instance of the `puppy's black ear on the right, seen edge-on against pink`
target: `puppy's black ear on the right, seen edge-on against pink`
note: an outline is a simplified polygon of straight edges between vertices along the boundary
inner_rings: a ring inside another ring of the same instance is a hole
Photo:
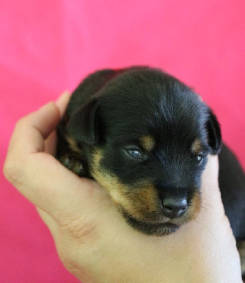
[[[219,154],[221,149],[221,129],[217,117],[211,109],[208,110],[209,118],[207,120],[207,138],[208,144],[212,149],[211,154]]]

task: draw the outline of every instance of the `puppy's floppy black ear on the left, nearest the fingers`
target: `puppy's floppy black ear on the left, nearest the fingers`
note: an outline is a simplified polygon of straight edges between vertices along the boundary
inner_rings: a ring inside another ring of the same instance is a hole
[[[98,99],[93,98],[84,104],[70,118],[67,131],[76,141],[95,144],[98,140],[96,112]]]

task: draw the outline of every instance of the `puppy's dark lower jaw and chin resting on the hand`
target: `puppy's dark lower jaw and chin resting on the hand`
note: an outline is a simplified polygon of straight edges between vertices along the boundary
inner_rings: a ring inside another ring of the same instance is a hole
[[[132,226],[133,229],[144,233],[149,236],[165,236],[177,231],[180,226],[172,224],[169,222],[166,223],[149,223],[142,220],[135,219],[132,216],[129,216],[127,212],[123,212],[127,224]]]

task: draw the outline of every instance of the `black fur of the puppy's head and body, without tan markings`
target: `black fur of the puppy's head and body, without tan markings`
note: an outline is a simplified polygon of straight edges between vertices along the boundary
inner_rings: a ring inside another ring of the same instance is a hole
[[[186,197],[188,207],[200,194],[207,155],[220,153],[219,182],[225,212],[234,236],[245,239],[241,166],[227,146],[222,146],[220,125],[212,110],[173,76],[148,67],[97,71],[72,94],[58,132],[57,158],[67,153],[78,158],[87,168],[79,175],[95,178],[93,158],[100,151],[101,172],[109,172],[120,184],[131,187],[124,192],[127,197],[135,197],[140,186],[152,185],[157,200]],[[81,154],[74,153],[67,137],[76,141]],[[152,137],[150,151],[142,148],[140,137]],[[191,150],[195,140],[199,141],[198,153]],[[142,158],[130,156],[133,150],[140,151]],[[160,204],[156,207],[161,210]],[[128,223],[143,233],[163,235],[179,226],[178,221],[164,220],[161,224],[159,211],[145,212],[139,219],[128,214],[123,204],[119,209]],[[163,233],[161,229],[165,229]]]

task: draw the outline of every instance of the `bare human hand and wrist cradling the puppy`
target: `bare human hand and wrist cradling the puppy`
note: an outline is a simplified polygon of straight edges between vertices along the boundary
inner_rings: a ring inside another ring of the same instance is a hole
[[[68,100],[64,93],[21,118],[4,164],[6,178],[37,207],[67,270],[84,283],[242,282],[217,156],[203,173],[198,217],[169,236],[146,236],[126,224],[103,187],[54,158],[54,131]]]

